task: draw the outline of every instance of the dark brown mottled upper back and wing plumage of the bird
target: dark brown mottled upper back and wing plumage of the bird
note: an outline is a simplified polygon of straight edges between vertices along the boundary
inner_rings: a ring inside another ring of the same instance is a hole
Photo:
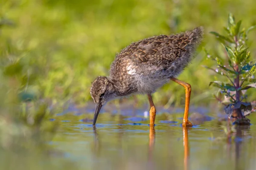
[[[118,59],[135,57],[138,62],[147,62],[150,59],[173,61],[201,42],[202,34],[203,28],[198,27],[180,34],[147,38],[123,49]]]

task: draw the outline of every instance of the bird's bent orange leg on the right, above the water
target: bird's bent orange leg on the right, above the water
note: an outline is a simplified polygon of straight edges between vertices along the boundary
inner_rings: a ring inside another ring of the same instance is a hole
[[[189,101],[190,101],[190,94],[191,94],[191,85],[186,82],[180,81],[174,77],[170,78],[172,81],[177,82],[178,84],[182,85],[185,88],[185,111],[183,116],[182,126],[192,127],[192,123],[189,122]]]

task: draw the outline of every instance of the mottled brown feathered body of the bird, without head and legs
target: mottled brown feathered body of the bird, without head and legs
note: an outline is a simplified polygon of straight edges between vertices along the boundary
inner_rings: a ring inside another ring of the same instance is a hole
[[[124,85],[131,79],[141,82],[143,79],[154,81],[175,77],[188,65],[202,37],[203,28],[198,27],[180,34],[160,35],[134,42],[116,56],[110,77],[124,82]]]

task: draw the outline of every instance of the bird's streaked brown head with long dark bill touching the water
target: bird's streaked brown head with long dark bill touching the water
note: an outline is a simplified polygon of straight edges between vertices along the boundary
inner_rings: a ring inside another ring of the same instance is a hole
[[[93,125],[96,124],[102,105],[116,96],[114,92],[113,83],[110,82],[107,77],[99,76],[93,81],[90,89],[90,94],[96,103]]]

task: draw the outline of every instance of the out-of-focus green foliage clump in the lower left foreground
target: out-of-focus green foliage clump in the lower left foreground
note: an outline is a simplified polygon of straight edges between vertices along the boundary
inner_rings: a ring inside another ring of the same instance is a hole
[[[43,147],[54,136],[58,123],[49,122],[46,104],[23,103],[20,109],[17,115],[1,114],[0,149],[15,151]]]

